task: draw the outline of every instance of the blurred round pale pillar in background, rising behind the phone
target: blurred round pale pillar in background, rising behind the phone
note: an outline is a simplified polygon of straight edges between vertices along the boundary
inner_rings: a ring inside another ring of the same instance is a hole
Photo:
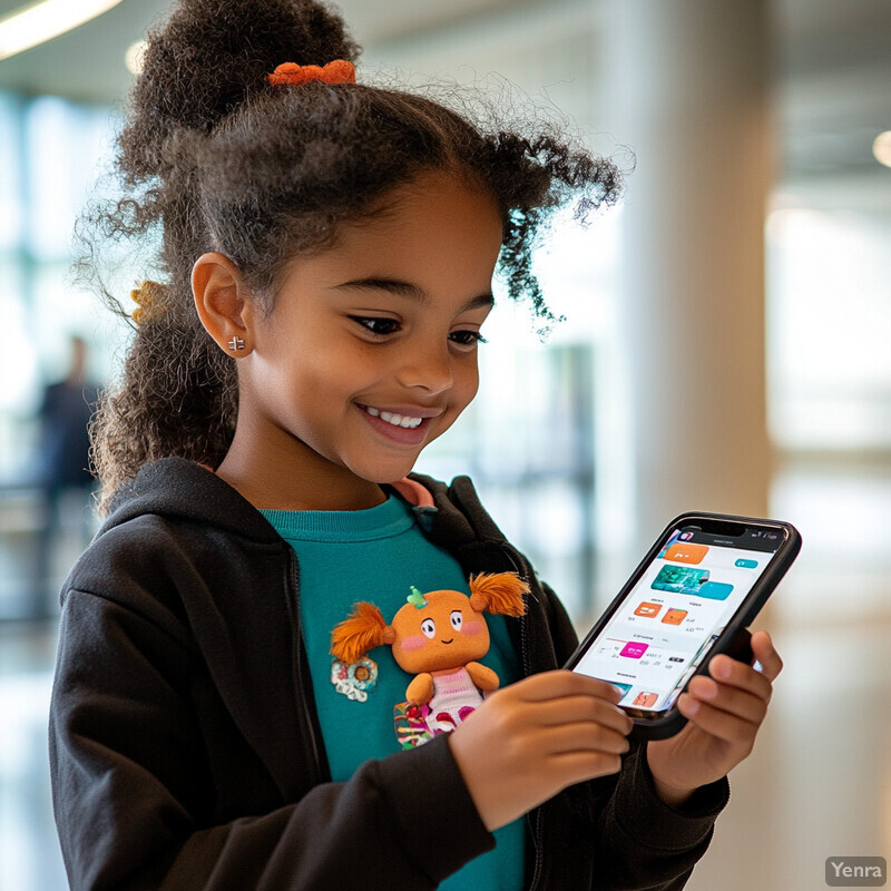
[[[635,546],[686,509],[763,516],[766,0],[607,0],[608,129],[631,148],[619,312]]]

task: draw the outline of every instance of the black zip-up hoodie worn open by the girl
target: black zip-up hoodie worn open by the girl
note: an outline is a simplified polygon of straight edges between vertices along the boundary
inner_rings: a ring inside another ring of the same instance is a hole
[[[415,479],[422,528],[468,575],[532,585],[509,621],[523,674],[562,665],[566,613],[470,481]],[[62,589],[50,763],[74,891],[432,889],[493,845],[446,736],[330,781],[298,596],[293,550],[198,464],[148,464],[116,497]],[[644,755],[530,814],[530,888],[684,885],[726,780],[675,810]]]

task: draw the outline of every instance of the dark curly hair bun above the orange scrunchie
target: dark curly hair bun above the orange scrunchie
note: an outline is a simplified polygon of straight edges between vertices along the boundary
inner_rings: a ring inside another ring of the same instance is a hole
[[[343,19],[314,0],[179,0],[148,36],[143,72],[120,137],[131,180],[164,170],[163,146],[178,128],[210,130],[267,88],[282,62],[354,61]]]

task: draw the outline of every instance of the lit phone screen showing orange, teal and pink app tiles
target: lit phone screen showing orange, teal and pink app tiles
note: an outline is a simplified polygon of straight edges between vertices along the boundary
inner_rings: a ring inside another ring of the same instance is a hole
[[[620,705],[674,705],[785,540],[782,528],[738,535],[674,529],[574,670],[623,692]]]

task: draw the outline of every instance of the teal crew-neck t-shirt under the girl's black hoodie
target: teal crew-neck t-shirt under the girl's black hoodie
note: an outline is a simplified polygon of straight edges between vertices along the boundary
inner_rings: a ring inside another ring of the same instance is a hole
[[[369,510],[262,513],[297,555],[300,618],[319,722],[332,780],[342,782],[364,761],[400,751],[393,707],[405,701],[412,676],[396,665],[389,646],[376,647],[368,654],[376,665],[374,687],[365,692],[364,701],[350,698],[332,683],[332,629],[359,600],[374,604],[390,621],[412,586],[423,593],[469,594],[468,580],[458,561],[424,537],[412,508],[396,496]],[[507,620],[487,615],[486,621],[491,643],[480,662],[507,686],[520,677]],[[525,833],[521,820],[497,830],[495,850],[472,860],[440,888],[519,891]]]

